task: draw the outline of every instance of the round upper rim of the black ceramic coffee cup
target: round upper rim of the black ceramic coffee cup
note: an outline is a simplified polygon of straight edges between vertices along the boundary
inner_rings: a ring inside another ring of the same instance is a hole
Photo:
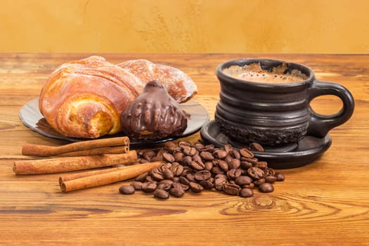
[[[231,65],[247,65],[247,64],[261,63],[261,62],[276,63],[276,64],[286,63],[287,65],[292,65],[293,68],[302,70],[302,72],[308,72],[309,74],[306,79],[301,80],[299,82],[292,82],[292,83],[285,83],[285,84],[278,83],[277,84],[277,83],[265,83],[265,82],[252,82],[252,81],[247,81],[243,79],[237,79],[235,77],[231,77],[230,75],[226,75],[223,72],[225,68],[231,67]],[[310,67],[307,67],[306,65],[303,65],[301,63],[295,63],[295,62],[291,62],[287,60],[279,60],[279,59],[273,59],[273,58],[238,58],[238,59],[233,59],[233,60],[227,60],[226,62],[221,63],[216,67],[216,75],[218,77],[221,77],[222,79],[226,79],[228,82],[257,85],[257,86],[268,87],[268,88],[271,88],[271,87],[286,88],[286,87],[301,86],[302,84],[307,84],[313,81],[313,79],[315,79],[315,73]]]

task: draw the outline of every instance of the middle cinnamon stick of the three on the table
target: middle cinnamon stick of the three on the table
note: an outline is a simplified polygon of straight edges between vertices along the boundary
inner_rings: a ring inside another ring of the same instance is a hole
[[[98,167],[109,167],[114,164],[128,164],[137,161],[136,150],[117,155],[91,155],[80,157],[60,157],[43,160],[15,161],[15,174],[53,174],[65,171],[77,171]]]

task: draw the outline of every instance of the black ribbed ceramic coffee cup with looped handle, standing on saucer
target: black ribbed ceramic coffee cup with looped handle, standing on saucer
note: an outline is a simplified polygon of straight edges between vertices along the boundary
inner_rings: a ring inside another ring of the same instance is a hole
[[[226,72],[230,68],[259,66],[261,72],[249,72],[244,79]],[[275,74],[275,75],[274,75]],[[252,76],[287,77],[294,82],[253,82]],[[214,115],[221,133],[238,143],[263,145],[297,143],[304,136],[322,138],[354,112],[354,98],[344,86],[321,82],[313,70],[299,63],[271,59],[238,59],[216,68],[221,90]],[[251,76],[251,77],[250,77]],[[334,95],[341,99],[342,109],[333,115],[320,115],[310,106],[317,96]]]

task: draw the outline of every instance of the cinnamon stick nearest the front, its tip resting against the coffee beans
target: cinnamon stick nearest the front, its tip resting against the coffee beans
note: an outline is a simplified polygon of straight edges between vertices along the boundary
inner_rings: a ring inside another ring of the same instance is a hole
[[[81,190],[85,188],[103,186],[109,183],[133,179],[136,176],[143,174],[145,171],[150,171],[155,167],[159,167],[160,164],[162,163],[163,163],[162,161],[159,161],[159,162],[147,162],[144,164],[134,164],[128,166],[125,169],[110,171],[105,174],[96,174],[92,176],[85,176],[79,179],[63,181],[60,183],[60,190],[62,190],[63,192],[70,192],[73,190]]]

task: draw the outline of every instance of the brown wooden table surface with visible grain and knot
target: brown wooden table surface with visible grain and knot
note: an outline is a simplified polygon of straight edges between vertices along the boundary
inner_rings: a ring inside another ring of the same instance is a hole
[[[215,68],[233,58],[263,57],[308,65],[323,81],[339,82],[355,98],[349,121],[330,131],[332,145],[315,162],[283,169],[273,193],[240,198],[212,191],[156,200],[120,195],[114,183],[62,193],[60,174],[15,176],[25,143],[61,145],[18,118],[60,64],[91,54],[0,54],[0,245],[368,245],[369,55],[101,54],[112,63],[147,58],[177,67],[198,84],[194,100],[214,118],[219,99]],[[332,113],[340,101],[313,101]],[[197,141],[194,134],[187,141]]]

